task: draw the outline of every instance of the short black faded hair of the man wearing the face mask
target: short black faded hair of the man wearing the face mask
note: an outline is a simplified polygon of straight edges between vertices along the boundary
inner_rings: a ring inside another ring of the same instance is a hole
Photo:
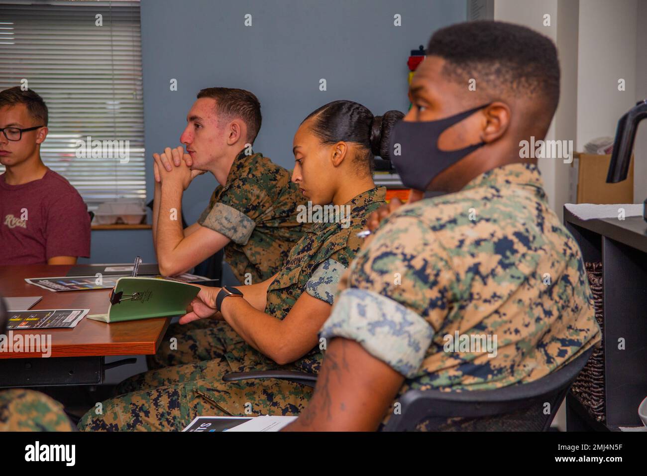
[[[477,91],[501,96],[541,96],[553,117],[560,98],[557,49],[546,36],[503,21],[468,21],[437,30],[427,46],[429,56],[446,63],[443,74]]]

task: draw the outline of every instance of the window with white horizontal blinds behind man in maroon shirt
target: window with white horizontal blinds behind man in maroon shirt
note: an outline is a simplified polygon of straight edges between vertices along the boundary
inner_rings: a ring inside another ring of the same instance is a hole
[[[43,162],[91,209],[146,198],[138,2],[0,3],[0,57],[0,89],[47,103]]]

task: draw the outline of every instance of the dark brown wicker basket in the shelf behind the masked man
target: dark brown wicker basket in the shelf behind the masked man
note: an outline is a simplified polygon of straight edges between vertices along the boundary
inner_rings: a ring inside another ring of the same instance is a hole
[[[584,370],[573,382],[571,392],[586,411],[597,422],[606,420],[605,399],[604,399],[604,300],[602,284],[602,263],[584,263],[586,274],[589,278],[589,286],[593,292],[593,303],[595,304],[595,319],[597,319],[602,330],[602,345],[593,350],[591,358]]]

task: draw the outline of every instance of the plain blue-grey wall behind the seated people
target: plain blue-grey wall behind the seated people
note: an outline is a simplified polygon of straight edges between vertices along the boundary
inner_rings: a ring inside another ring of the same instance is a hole
[[[395,14],[401,27],[393,26]],[[349,99],[376,115],[406,111],[409,51],[465,19],[460,0],[142,0],[146,155],[180,144],[197,91],[241,87],[261,102],[254,149],[292,168],[294,132],[319,106]],[[170,91],[171,78],[177,91]],[[320,78],[327,91],[319,91]],[[149,167],[148,199],[151,174]],[[193,181],[183,200],[189,223],[216,186],[210,174]],[[91,262],[155,261],[148,230],[94,231],[92,241]]]

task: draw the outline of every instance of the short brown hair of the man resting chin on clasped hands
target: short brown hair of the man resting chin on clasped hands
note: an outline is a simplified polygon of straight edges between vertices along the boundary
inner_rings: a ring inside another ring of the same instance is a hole
[[[254,144],[261,130],[261,103],[253,93],[232,87],[207,87],[197,98],[215,99],[215,110],[223,119],[242,119],[247,125],[247,141]]]

